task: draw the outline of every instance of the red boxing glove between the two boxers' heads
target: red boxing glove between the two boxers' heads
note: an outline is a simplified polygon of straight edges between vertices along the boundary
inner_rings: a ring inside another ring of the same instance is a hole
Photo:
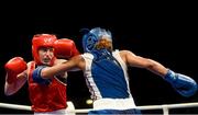
[[[73,56],[79,55],[78,49],[74,41],[68,38],[57,39],[54,43],[54,54],[57,58],[72,58]]]

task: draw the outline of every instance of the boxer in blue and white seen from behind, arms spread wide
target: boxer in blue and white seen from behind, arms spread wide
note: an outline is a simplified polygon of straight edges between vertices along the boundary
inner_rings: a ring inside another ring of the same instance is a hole
[[[43,68],[41,77],[79,68],[94,100],[88,114],[141,114],[130,92],[128,67],[145,68],[158,74],[183,96],[191,96],[197,83],[188,76],[176,73],[162,64],[138,56],[130,50],[113,50],[111,32],[96,27],[82,36],[84,54],[70,60]]]

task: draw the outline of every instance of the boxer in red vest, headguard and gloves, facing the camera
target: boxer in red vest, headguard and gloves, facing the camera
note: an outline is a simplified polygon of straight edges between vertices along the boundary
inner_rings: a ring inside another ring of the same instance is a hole
[[[62,64],[78,54],[79,51],[72,39],[57,39],[56,35],[53,34],[34,35],[32,38],[34,60],[26,64],[22,57],[14,57],[4,65],[7,71],[4,94],[14,94],[28,81],[29,96],[34,114],[65,114],[67,108],[67,72],[51,79],[42,79],[35,78],[33,70]]]

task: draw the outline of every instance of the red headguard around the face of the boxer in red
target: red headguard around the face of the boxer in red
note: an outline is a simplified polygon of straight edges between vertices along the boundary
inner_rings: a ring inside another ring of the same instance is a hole
[[[38,57],[37,50],[40,47],[53,47],[54,42],[57,39],[57,37],[53,34],[36,34],[32,38],[32,55],[34,58],[34,61],[36,65],[43,65],[41,62],[41,59]],[[54,64],[56,57],[53,57],[51,60],[52,66]]]

